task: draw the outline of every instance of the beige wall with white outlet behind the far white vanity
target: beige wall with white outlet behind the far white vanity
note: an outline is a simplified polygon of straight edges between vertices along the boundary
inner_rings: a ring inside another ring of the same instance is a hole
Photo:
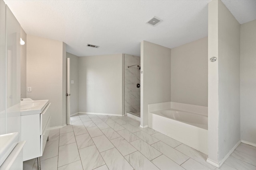
[[[66,48],[61,41],[27,35],[27,98],[52,103],[51,127],[66,124]]]

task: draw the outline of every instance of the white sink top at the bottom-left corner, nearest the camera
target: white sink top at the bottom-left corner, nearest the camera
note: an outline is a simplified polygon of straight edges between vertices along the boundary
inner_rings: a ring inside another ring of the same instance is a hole
[[[20,141],[18,132],[0,135],[0,166]]]

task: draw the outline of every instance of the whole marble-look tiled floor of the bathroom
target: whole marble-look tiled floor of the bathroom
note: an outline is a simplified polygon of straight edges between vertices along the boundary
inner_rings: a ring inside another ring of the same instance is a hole
[[[256,170],[256,147],[241,143],[221,168],[194,150],[127,116],[80,114],[50,131],[42,170]],[[37,170],[36,159],[24,170]]]

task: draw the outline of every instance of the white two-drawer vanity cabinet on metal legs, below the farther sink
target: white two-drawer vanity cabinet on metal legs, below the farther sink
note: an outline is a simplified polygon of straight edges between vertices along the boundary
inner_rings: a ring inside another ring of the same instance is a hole
[[[23,161],[43,155],[49,135],[50,111],[48,108],[50,104],[47,102],[41,109],[42,112],[39,111],[41,113],[30,110],[30,112],[24,111],[24,114],[21,114],[21,141],[26,141],[23,148]]]

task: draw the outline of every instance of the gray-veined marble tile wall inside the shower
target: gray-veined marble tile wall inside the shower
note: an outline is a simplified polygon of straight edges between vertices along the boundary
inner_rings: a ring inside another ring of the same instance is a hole
[[[125,113],[140,111],[140,70],[138,66],[128,68],[128,66],[140,64],[140,57],[133,55],[124,55],[124,100]]]

